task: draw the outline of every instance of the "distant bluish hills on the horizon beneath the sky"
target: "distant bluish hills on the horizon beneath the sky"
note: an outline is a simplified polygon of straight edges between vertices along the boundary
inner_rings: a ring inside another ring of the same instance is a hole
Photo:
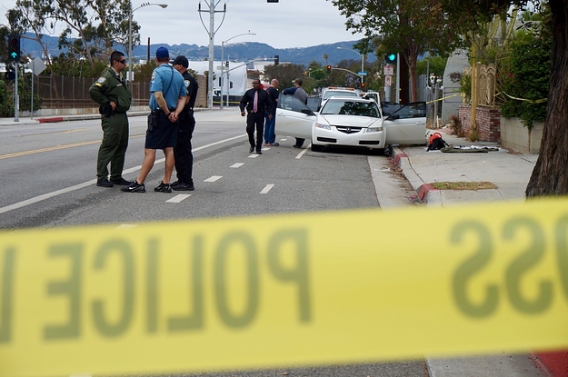
[[[44,35],[43,40],[47,43],[51,55],[56,56],[61,54],[62,51],[57,50],[58,37]],[[328,64],[337,64],[340,61],[347,60],[361,60],[361,57],[354,54],[348,49],[353,48],[357,41],[337,42],[331,45],[314,45],[310,47],[298,48],[274,48],[270,45],[261,44],[257,42],[242,42],[237,44],[230,44],[224,46],[224,59],[230,58],[231,60],[251,61],[251,60],[273,60],[274,55],[279,55],[281,63],[293,63],[308,65],[313,61],[320,64],[325,64],[324,55],[329,55],[327,60]],[[209,46],[198,45],[150,45],[150,57],[154,57],[155,50],[164,46],[170,51],[170,55],[185,55],[188,60],[207,60],[209,56]],[[337,47],[342,47],[339,49]],[[126,53],[123,46],[116,46],[116,49]],[[38,43],[30,39],[22,38],[22,51],[24,55],[31,55],[32,57],[43,57],[43,53]],[[65,52],[65,50],[63,51]],[[136,45],[133,49],[133,57],[136,59],[146,59],[148,55],[147,45]],[[221,60],[221,46],[215,45],[214,47],[215,60]],[[366,61],[374,62],[376,57],[374,54],[367,56]]]

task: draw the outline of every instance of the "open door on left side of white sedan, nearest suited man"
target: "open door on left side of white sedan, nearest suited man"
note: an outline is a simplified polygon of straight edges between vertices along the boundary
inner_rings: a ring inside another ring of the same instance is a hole
[[[275,134],[311,140],[314,122],[314,111],[307,105],[294,95],[280,94],[276,108]]]

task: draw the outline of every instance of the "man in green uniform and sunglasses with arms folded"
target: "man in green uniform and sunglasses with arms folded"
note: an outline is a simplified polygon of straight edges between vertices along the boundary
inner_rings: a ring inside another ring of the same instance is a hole
[[[123,178],[126,147],[128,147],[128,117],[132,94],[128,90],[122,72],[126,67],[125,55],[114,51],[111,65],[105,69],[95,84],[89,88],[91,98],[100,105],[103,126],[103,142],[96,160],[96,185],[113,187],[114,184],[128,185]],[[111,177],[108,180],[108,164]]]

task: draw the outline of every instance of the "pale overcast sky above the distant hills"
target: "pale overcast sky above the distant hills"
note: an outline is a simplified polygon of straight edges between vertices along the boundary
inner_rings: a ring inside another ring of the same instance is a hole
[[[148,37],[151,38],[151,44],[209,45],[208,31],[204,27],[209,29],[208,1],[155,2],[168,6],[162,9],[157,5],[148,5],[134,13],[133,19],[141,26],[142,45],[146,45]],[[202,11],[207,12],[200,14],[197,11],[200,2]],[[143,3],[141,0],[132,0],[133,8]],[[268,4],[266,0],[221,0],[215,4],[215,11],[222,11],[225,4],[226,13],[214,15],[215,45],[221,45],[222,41],[249,30],[256,35],[239,36],[228,41],[228,44],[246,41],[261,42],[274,48],[289,48],[354,41],[363,37],[345,30],[345,18],[331,1],[280,0],[280,3]],[[7,23],[6,10],[14,5],[15,0],[1,0],[1,24]]]

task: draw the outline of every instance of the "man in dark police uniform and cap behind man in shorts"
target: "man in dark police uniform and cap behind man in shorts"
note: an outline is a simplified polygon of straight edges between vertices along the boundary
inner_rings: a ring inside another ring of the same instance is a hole
[[[177,72],[184,76],[185,90],[187,91],[184,111],[179,114],[179,132],[177,144],[174,146],[177,181],[172,184],[172,189],[175,191],[191,191],[195,189],[192,178],[194,155],[192,154],[191,139],[195,129],[194,104],[199,86],[194,76],[187,72],[189,62],[185,56],[177,56],[172,64]]]

